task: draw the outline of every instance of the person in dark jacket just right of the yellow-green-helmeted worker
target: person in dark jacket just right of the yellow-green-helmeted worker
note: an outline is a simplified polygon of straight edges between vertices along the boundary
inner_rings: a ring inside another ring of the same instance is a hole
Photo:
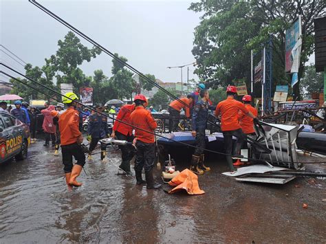
[[[96,105],[96,111],[102,113],[103,107],[102,105]],[[100,113],[94,113],[89,117],[89,124],[87,129],[87,140],[89,142],[89,155],[88,159],[91,160],[91,152],[94,151],[98,141],[104,139],[105,137],[109,137],[109,128],[107,127],[107,117],[101,115]],[[105,159],[105,155],[107,152],[107,146],[104,143],[100,145],[100,159],[103,163],[107,162]]]

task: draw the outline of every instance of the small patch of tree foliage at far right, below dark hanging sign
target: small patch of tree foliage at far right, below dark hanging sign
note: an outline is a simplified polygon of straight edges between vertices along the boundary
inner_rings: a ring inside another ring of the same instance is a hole
[[[303,78],[301,78],[301,93],[320,92],[324,87],[323,72],[316,73],[314,65],[305,67]]]

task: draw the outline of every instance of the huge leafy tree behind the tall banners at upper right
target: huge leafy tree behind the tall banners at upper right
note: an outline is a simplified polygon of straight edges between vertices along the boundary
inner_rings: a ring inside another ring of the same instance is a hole
[[[237,78],[246,78],[249,85],[250,49],[258,52],[271,37],[273,79],[290,84],[290,76],[284,74],[285,30],[298,14],[302,15],[301,77],[304,63],[313,51],[313,19],[325,14],[325,1],[202,0],[191,3],[189,9],[204,12],[195,28],[193,47],[199,78],[213,83],[213,87],[232,84]],[[298,85],[294,92],[299,96]]]

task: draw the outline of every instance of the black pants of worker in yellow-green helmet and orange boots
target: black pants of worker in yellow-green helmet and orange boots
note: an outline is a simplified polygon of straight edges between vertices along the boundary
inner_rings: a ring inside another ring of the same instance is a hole
[[[63,153],[63,170],[65,173],[72,172],[72,156],[77,160],[78,165],[84,166],[85,164],[85,153],[83,153],[82,148],[76,142],[74,144],[63,145],[61,146],[61,150]]]

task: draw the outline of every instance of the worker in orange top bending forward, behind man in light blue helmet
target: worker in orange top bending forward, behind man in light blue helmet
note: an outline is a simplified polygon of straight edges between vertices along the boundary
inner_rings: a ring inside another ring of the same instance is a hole
[[[179,124],[180,111],[184,109],[186,113],[186,118],[191,116],[191,107],[193,104],[194,95],[188,94],[186,98],[180,98],[179,100],[174,100],[169,105],[169,113],[172,119],[169,120],[169,131],[177,131],[177,125]],[[182,102],[184,103],[182,103]]]

